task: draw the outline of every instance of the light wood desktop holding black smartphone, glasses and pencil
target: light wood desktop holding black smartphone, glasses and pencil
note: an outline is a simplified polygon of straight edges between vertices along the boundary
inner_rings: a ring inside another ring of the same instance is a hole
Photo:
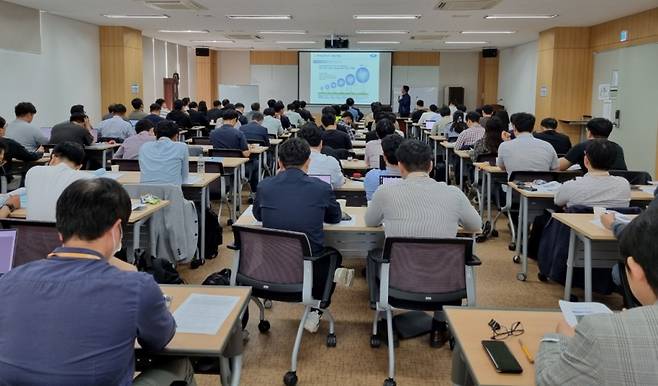
[[[462,349],[464,360],[479,385],[534,385],[535,366],[528,362],[518,340],[528,347],[534,358],[539,351],[539,343],[546,333],[555,332],[562,319],[558,311],[495,310],[468,307],[444,307],[448,325]],[[523,368],[521,374],[499,374],[482,348],[482,341],[491,338],[487,323],[496,319],[503,326],[510,327],[521,322],[525,332],[519,337],[511,336],[504,340],[514,357]]]

